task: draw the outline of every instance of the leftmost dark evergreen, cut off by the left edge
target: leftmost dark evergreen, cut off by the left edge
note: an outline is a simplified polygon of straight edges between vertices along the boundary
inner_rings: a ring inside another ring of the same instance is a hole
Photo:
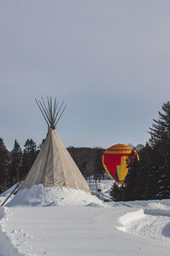
[[[8,189],[8,150],[0,137],[0,193]]]

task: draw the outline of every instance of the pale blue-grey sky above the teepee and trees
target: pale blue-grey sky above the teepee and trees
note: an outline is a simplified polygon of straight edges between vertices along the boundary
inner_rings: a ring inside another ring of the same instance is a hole
[[[0,137],[38,144],[35,97],[67,108],[65,146],[147,142],[170,100],[170,1],[0,0]]]

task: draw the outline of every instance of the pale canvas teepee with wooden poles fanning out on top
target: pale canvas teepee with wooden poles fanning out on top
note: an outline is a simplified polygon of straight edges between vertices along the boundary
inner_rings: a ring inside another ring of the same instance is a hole
[[[47,104],[43,98],[42,101],[36,99],[36,102],[48,124],[48,135],[20,189],[29,189],[35,184],[43,184],[44,187],[64,186],[68,189],[80,189],[91,193],[88,183],[55,131],[66,108],[66,106],[63,107],[64,102],[59,108],[56,98],[54,104],[52,97],[48,98]]]

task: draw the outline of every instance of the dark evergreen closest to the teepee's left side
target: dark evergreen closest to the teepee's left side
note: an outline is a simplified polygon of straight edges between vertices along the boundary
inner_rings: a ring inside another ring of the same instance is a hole
[[[25,177],[26,173],[30,171],[37,157],[37,145],[32,139],[27,139],[24,147],[20,179]]]

